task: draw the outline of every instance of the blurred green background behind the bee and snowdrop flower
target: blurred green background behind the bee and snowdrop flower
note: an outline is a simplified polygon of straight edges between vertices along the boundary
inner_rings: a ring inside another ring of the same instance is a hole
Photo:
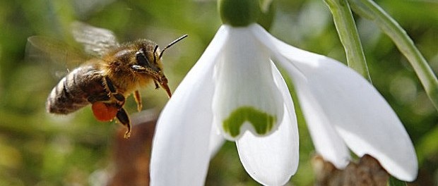
[[[438,72],[438,2],[381,0]],[[345,63],[329,9],[323,1],[276,1],[270,32],[293,46]],[[356,16],[356,15],[355,15]],[[376,25],[356,16],[372,81],[396,111],[415,144],[420,171],[414,185],[437,185],[438,114],[406,58]],[[25,60],[27,38],[43,35],[71,42],[69,24],[81,20],[114,31],[120,42],[148,38],[160,46],[188,34],[163,60],[170,88],[201,56],[220,26],[216,1],[76,0],[0,1],[0,186],[103,185],[112,170],[120,125],[100,123],[89,107],[52,116],[45,101],[57,77],[50,61]],[[64,69],[65,70],[65,69]],[[143,89],[146,109],[161,109],[165,92]],[[130,97],[126,108],[136,111]],[[295,100],[296,101],[296,100]],[[290,185],[312,185],[314,153],[300,123],[300,166]],[[396,140],[396,139],[395,139]],[[206,185],[259,185],[244,171],[235,144],[226,142],[211,162]]]

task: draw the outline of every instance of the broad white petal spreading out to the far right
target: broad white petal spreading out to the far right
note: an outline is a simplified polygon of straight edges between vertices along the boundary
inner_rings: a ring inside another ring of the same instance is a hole
[[[413,144],[396,113],[377,89],[343,63],[289,46],[270,35],[264,36],[263,39],[271,41],[267,43],[273,47],[277,58],[290,61],[280,60],[292,80],[305,80],[305,83],[295,82],[297,92],[300,89],[308,91],[299,93],[299,98],[305,99],[306,95],[312,94],[314,102],[311,104],[320,108],[316,111],[324,113],[355,154],[370,154],[394,177],[415,180],[418,162]]]

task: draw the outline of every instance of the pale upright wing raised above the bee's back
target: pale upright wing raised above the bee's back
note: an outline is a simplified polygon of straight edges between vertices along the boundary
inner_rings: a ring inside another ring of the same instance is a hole
[[[85,52],[92,56],[101,57],[110,49],[119,46],[117,38],[110,30],[77,21],[71,24],[71,28],[76,42],[83,44]]]

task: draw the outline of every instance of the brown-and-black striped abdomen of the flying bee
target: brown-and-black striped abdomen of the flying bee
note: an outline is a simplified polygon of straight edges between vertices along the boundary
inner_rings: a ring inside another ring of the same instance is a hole
[[[102,75],[97,65],[76,68],[59,81],[47,97],[49,113],[67,114],[90,104],[88,97],[107,94],[102,85]]]

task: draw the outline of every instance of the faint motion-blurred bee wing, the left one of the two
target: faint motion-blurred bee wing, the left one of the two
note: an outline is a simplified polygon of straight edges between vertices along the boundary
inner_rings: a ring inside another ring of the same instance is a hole
[[[80,49],[57,39],[42,36],[28,38],[25,49],[26,61],[40,63],[58,79],[89,58]]]

